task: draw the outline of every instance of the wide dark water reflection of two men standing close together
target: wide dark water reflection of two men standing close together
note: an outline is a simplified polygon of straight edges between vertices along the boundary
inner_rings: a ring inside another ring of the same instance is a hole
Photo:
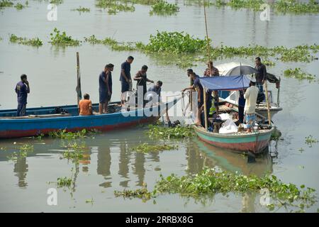
[[[110,179],[108,176],[111,175],[111,150],[107,146],[105,148],[99,147],[97,155],[97,174],[102,175],[104,179]],[[103,182],[99,184],[101,187],[111,187],[111,182]]]

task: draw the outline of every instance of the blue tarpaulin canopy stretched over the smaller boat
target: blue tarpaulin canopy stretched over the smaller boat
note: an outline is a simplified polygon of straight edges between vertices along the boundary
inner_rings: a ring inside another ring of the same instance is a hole
[[[237,91],[250,87],[250,77],[242,76],[229,76],[229,77],[200,77],[199,81],[204,89],[209,90],[227,90]]]

